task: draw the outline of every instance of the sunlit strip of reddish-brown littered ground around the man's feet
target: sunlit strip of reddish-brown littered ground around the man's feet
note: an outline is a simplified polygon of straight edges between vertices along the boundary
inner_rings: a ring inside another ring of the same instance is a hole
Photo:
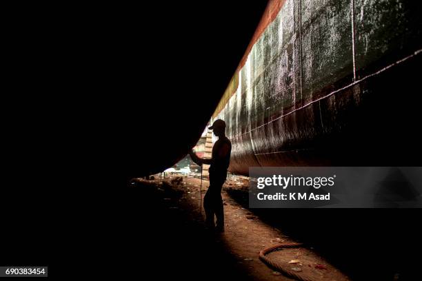
[[[208,189],[208,181],[202,183],[202,194],[199,191],[201,185],[201,177],[195,176],[176,176],[172,175],[163,180],[159,176],[155,176],[154,182],[157,189],[160,190],[161,198],[169,200],[168,206],[177,211],[188,210],[192,214],[198,214],[199,222],[203,222],[205,214],[203,209],[199,209],[201,200],[200,196],[205,196]],[[143,178],[139,179],[144,181]],[[231,187],[238,192],[245,193],[245,198],[248,198],[248,184],[245,180],[239,179],[237,182],[244,182],[242,187]],[[148,181],[149,185],[154,182]],[[245,189],[245,190],[243,190]],[[219,234],[219,239],[224,247],[237,259],[237,265],[248,272],[254,279],[260,281],[291,281],[292,279],[284,275],[281,271],[274,271],[266,264],[259,260],[259,252],[265,248],[274,246],[275,244],[292,243],[294,240],[286,236],[282,230],[277,229],[267,223],[263,222],[259,216],[254,216],[254,213],[248,209],[247,201],[245,205],[240,204],[235,197],[230,197],[227,188],[223,188],[221,196],[223,197],[224,214],[225,214],[225,232]],[[175,200],[174,196],[180,196]],[[171,198],[170,198],[171,197]],[[239,196],[241,198],[241,196]],[[227,203],[226,203],[227,202]],[[170,205],[169,204],[169,205]],[[177,209],[178,208],[178,209]],[[192,210],[195,210],[192,212]],[[202,211],[202,213],[201,213]],[[323,280],[331,281],[348,281],[348,278],[341,273],[341,271],[334,269],[328,262],[319,256],[317,253],[309,248],[301,249],[283,249],[283,251],[274,251],[269,253],[271,258],[277,264],[284,264],[286,269],[296,271],[298,275],[308,280]],[[300,260],[298,258],[300,256]],[[327,269],[321,271],[320,269]],[[277,275],[277,277],[275,277]]]

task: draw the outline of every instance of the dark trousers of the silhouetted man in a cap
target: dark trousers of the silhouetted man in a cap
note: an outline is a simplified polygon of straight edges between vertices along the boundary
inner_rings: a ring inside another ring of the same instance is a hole
[[[225,182],[225,177],[213,178],[210,175],[210,187],[203,198],[203,209],[207,225],[215,227],[214,215],[217,217],[217,228],[224,229],[223,199],[221,198],[221,188]]]

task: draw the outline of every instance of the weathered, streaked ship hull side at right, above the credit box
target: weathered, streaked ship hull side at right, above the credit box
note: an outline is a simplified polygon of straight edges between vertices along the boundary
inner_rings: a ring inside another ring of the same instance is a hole
[[[415,165],[421,139],[405,136],[420,119],[419,1],[270,1],[274,7],[213,116],[228,124],[230,171]]]

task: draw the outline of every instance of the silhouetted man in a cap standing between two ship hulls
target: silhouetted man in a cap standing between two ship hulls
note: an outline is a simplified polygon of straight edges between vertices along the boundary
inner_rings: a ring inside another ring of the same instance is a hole
[[[199,166],[202,164],[210,165],[210,187],[203,198],[203,209],[205,209],[206,222],[208,227],[217,231],[224,231],[224,213],[223,200],[221,199],[221,188],[227,177],[227,169],[230,163],[230,152],[232,152],[232,143],[225,136],[225,122],[221,119],[214,121],[211,127],[214,135],[219,140],[212,147],[212,158],[199,158],[192,149],[189,154],[194,163]],[[214,225],[214,214],[217,216],[217,226]]]

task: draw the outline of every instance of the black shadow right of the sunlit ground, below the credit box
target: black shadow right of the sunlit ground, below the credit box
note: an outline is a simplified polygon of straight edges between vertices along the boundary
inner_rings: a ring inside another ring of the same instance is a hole
[[[248,208],[248,192],[228,194]],[[422,230],[416,209],[250,209],[352,280],[416,280]],[[412,258],[415,257],[415,258]],[[416,279],[415,279],[416,278]]]

